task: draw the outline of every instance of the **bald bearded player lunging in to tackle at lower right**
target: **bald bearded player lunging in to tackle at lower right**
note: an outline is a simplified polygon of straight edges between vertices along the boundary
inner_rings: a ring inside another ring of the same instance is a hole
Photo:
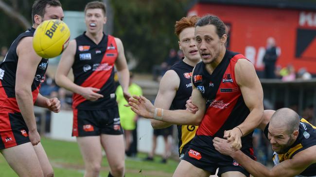
[[[220,153],[229,155],[255,177],[316,177],[316,127],[289,108],[265,110],[258,127],[269,139],[275,166],[269,170],[250,159],[242,151],[234,151],[222,138],[213,145]]]

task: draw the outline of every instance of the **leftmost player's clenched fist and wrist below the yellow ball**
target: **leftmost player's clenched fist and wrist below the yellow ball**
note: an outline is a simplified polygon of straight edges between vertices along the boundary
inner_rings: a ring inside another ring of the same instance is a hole
[[[35,101],[35,106],[45,107],[54,113],[58,113],[60,111],[60,101],[58,98],[46,98],[40,93],[38,93],[37,99]]]

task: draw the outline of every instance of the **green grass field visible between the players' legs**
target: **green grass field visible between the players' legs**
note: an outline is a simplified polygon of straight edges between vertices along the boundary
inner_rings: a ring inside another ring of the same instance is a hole
[[[83,177],[84,162],[77,143],[48,138],[42,138],[41,143],[53,165],[55,177]],[[173,160],[168,160],[167,164],[159,163],[160,157],[154,162],[141,161],[145,156],[139,153],[137,158],[126,159],[125,177],[171,177],[178,164]],[[100,177],[107,177],[108,172],[108,163],[104,158]],[[17,177],[2,155],[0,155],[0,177]]]

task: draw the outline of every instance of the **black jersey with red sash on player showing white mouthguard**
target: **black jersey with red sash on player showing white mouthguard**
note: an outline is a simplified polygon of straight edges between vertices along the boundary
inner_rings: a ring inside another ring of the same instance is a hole
[[[80,94],[72,96],[72,107],[84,110],[100,110],[116,106],[114,63],[118,57],[115,38],[103,34],[99,44],[95,44],[84,33],[76,39],[76,54],[72,65],[74,83],[82,87],[99,88],[104,97],[88,101]]]

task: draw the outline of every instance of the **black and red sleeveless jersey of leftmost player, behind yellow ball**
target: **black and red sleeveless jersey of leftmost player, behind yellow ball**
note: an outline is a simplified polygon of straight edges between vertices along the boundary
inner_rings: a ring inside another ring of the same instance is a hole
[[[16,40],[11,44],[8,53],[0,64],[0,107],[1,109],[14,110],[20,112],[16,100],[15,86],[16,86],[16,73],[18,66],[17,47],[19,41],[28,36],[33,36],[34,28],[27,29],[21,33]],[[48,67],[48,59],[41,59],[39,62],[34,80],[32,83],[33,103],[35,103],[40,84],[45,81],[45,73]]]

